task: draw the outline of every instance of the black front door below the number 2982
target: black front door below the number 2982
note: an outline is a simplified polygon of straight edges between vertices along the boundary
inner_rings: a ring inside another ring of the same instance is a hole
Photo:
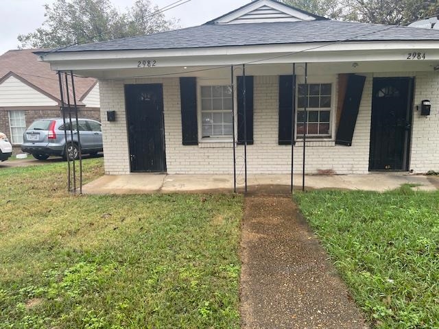
[[[163,86],[125,86],[130,165],[132,172],[165,172]]]

